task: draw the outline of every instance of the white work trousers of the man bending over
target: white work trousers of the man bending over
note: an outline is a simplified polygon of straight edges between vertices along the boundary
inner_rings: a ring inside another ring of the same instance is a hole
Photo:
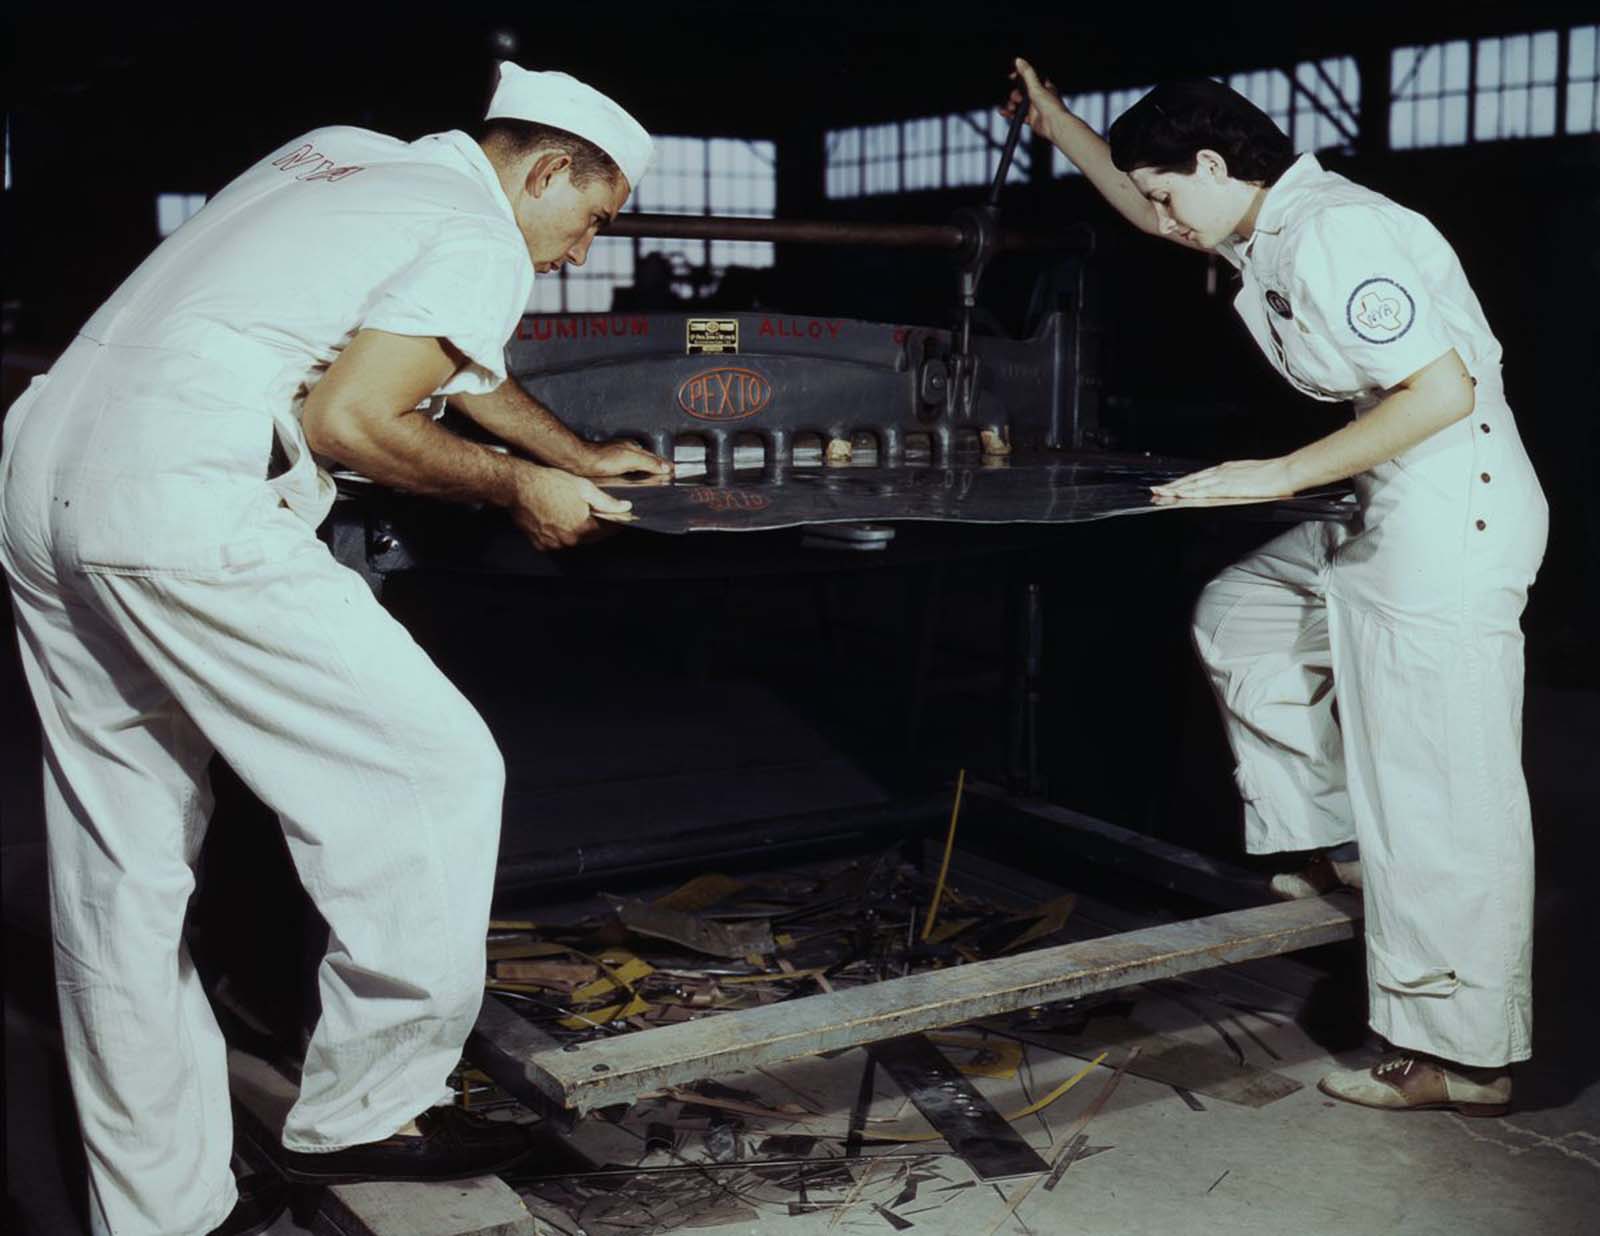
[[[184,948],[211,752],[277,812],[330,927],[283,1135],[304,1151],[445,1097],[504,791],[472,706],[266,480],[270,419],[192,370],[80,339],[0,461],[67,1071],[112,1236],[200,1236],[235,1199],[222,1037]]]

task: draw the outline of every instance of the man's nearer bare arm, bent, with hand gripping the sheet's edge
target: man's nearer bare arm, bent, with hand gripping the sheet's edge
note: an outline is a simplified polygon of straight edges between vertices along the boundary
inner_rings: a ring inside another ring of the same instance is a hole
[[[597,530],[594,514],[630,508],[582,477],[467,442],[419,411],[459,363],[440,339],[358,331],[306,395],[306,440],[382,485],[504,506],[542,549],[576,544]]]

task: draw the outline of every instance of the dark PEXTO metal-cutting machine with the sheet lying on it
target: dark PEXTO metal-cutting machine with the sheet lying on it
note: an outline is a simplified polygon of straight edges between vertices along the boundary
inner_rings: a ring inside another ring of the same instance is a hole
[[[882,548],[894,520],[1075,522],[1152,511],[1149,485],[1190,464],[1114,456],[1099,435],[1093,234],[1000,227],[1013,123],[982,205],[944,224],[622,215],[613,235],[938,250],[957,261],[960,325],[749,312],[530,314],[510,375],[592,440],[632,437],[678,480],[630,488],[654,532],[856,525],[835,544]],[[1024,339],[976,336],[982,274],[1000,251],[1070,255]],[[349,484],[334,552],[370,581],[424,565],[550,573],[506,520]],[[1282,517],[1339,517],[1325,496]],[[866,532],[862,524],[877,525]],[[445,530],[445,532],[442,532]]]

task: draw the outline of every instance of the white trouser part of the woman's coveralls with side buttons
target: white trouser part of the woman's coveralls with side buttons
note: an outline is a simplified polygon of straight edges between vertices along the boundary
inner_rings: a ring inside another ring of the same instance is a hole
[[[1525,1060],[1533,837],[1518,624],[1547,508],[1498,391],[1213,580],[1194,637],[1251,853],[1362,847],[1373,1029]]]

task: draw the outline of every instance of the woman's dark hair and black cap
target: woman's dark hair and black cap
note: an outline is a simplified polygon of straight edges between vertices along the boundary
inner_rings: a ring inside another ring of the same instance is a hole
[[[1210,78],[1158,85],[1117,117],[1109,138],[1122,171],[1189,175],[1197,152],[1216,150],[1234,179],[1272,184],[1294,162],[1294,144],[1272,117]]]

